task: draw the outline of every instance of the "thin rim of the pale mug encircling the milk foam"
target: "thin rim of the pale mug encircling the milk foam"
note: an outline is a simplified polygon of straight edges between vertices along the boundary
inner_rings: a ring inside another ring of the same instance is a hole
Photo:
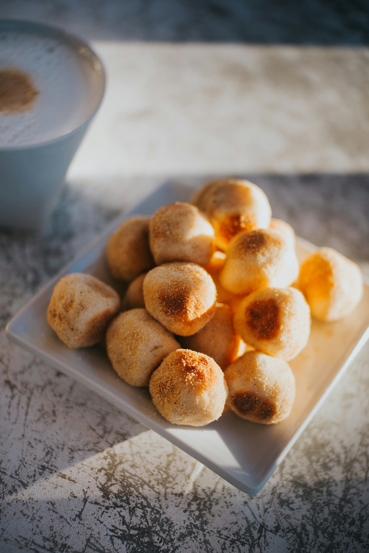
[[[101,72],[101,93],[98,97],[98,101],[96,103],[95,108],[93,108],[90,115],[81,123],[78,127],[72,129],[72,131],[69,131],[65,134],[61,134],[58,137],[51,138],[50,140],[44,140],[44,142],[37,142],[35,144],[28,144],[28,145],[20,145],[20,146],[0,146],[0,152],[12,152],[16,150],[28,150],[32,148],[40,148],[49,144],[54,144],[61,142],[62,140],[66,139],[67,137],[70,137],[73,134],[78,133],[82,127],[86,126],[90,123],[91,119],[95,116],[96,112],[98,111],[98,108],[101,106],[101,102],[103,99],[103,96],[105,94],[105,88],[106,88],[106,72],[105,68],[102,64],[101,59],[98,57],[98,55],[95,53],[95,51],[92,50],[91,46],[87,44],[84,40],[81,40],[75,35],[72,35],[70,33],[66,33],[63,29],[60,29],[58,27],[54,27],[53,25],[46,25],[44,23],[38,23],[31,20],[25,20],[25,19],[0,19],[0,32],[2,30],[19,30],[20,32],[31,32],[34,34],[43,34],[47,36],[51,36],[51,38],[59,38],[64,43],[69,44],[73,47],[74,50],[78,52],[79,48],[86,48],[89,51],[89,54],[93,60],[93,65],[95,63],[99,66],[98,70]]]

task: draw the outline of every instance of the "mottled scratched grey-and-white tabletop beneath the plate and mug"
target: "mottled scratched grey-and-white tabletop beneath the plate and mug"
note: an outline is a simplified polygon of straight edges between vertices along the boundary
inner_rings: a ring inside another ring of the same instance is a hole
[[[360,25],[339,48],[243,44],[238,35],[231,44],[228,31],[224,43],[181,44],[165,42],[181,36],[170,25],[167,37],[150,34],[146,12],[130,5],[0,2],[1,17],[91,39],[108,75],[48,231],[0,232],[0,552],[366,552],[369,344],[251,497],[4,335],[81,247],[168,179],[246,176],[274,216],[369,275],[369,50]],[[122,14],[147,35],[129,35]]]

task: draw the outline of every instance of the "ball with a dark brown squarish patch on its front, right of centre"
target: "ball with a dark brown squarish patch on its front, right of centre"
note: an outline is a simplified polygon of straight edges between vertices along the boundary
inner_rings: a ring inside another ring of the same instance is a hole
[[[308,343],[310,308],[295,288],[263,288],[246,296],[234,323],[247,344],[289,361]]]

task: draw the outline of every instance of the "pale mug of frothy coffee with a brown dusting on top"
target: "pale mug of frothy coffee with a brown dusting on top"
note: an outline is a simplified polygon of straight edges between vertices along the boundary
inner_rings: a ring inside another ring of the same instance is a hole
[[[79,39],[0,20],[0,226],[45,228],[104,88]]]

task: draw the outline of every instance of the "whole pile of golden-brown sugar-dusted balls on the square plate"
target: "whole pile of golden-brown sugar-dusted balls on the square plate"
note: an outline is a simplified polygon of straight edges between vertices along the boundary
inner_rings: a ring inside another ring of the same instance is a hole
[[[264,192],[234,179],[131,217],[106,247],[112,275],[129,283],[122,301],[94,276],[70,274],[54,288],[48,322],[71,348],[105,336],[118,375],[148,386],[173,424],[208,424],[225,404],[247,420],[282,421],[295,397],[288,361],[308,343],[310,313],[345,317],[363,281],[331,248],[299,267],[293,228],[271,217]]]

